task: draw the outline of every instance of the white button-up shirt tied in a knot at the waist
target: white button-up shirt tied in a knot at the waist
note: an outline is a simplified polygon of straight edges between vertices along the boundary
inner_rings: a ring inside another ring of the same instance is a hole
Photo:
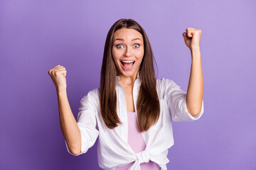
[[[140,86],[139,73],[134,81],[133,98],[137,114],[137,98]],[[193,117],[186,108],[186,92],[180,89],[174,81],[169,79],[156,79],[156,90],[159,96],[160,116],[155,125],[148,131],[142,132],[146,143],[143,152],[135,153],[128,144],[128,120],[126,98],[124,88],[117,77],[117,115],[123,123],[114,129],[109,129],[102,120],[100,114],[99,89],[90,91],[80,101],[78,109],[78,128],[81,132],[81,153],[87,152],[99,137],[97,144],[97,157],[99,166],[105,170],[114,170],[117,166],[124,166],[131,162],[134,164],[129,170],[139,170],[139,164],[144,162],[156,162],[162,170],[166,170],[169,159],[166,157],[168,149],[174,145],[174,137],[171,121],[193,121],[203,114],[203,102],[201,112]],[[65,142],[68,149],[68,145]],[[72,154],[69,149],[68,152]],[[80,155],[78,154],[78,155]],[[73,154],[74,155],[74,154]],[[74,155],[74,156],[78,156]]]

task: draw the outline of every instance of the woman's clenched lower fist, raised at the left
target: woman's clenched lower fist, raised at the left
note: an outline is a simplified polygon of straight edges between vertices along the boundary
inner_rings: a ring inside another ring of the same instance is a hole
[[[48,71],[50,78],[55,84],[56,90],[65,90],[67,88],[66,75],[67,70],[63,66],[55,66]]]

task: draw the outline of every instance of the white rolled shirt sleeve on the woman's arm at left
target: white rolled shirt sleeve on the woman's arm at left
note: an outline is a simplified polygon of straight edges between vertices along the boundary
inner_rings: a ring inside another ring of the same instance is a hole
[[[87,150],[95,144],[97,137],[99,135],[99,131],[96,128],[97,120],[96,120],[96,108],[95,108],[95,100],[97,100],[97,96],[92,94],[90,91],[87,96],[84,96],[80,101],[80,108],[78,108],[78,119],[77,124],[81,133],[81,152],[80,154],[84,154]],[[68,149],[67,142],[65,141],[66,148],[70,154],[70,150]],[[78,154],[78,155],[80,155]],[[73,154],[74,156],[78,156]]]

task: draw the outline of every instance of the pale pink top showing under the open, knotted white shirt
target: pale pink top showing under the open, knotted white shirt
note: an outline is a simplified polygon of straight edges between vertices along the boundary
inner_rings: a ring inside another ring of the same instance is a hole
[[[142,152],[146,148],[146,144],[142,137],[142,133],[139,132],[139,128],[136,121],[136,113],[128,112],[128,144],[132,147],[135,153]],[[126,166],[119,166],[115,170],[127,170],[130,166],[132,166],[134,162],[127,164]],[[141,170],[159,170],[160,166],[155,162],[149,161],[148,163],[140,164]]]

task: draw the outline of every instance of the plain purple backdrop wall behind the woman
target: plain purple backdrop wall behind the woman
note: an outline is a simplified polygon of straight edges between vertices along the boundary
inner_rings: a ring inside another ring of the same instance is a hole
[[[186,28],[202,30],[204,113],[174,123],[168,169],[256,169],[256,2],[0,0],[0,169],[100,169],[97,147],[74,157],[60,131],[48,70],[67,70],[75,118],[100,83],[107,32],[119,18],[146,30],[159,69],[187,90]]]

